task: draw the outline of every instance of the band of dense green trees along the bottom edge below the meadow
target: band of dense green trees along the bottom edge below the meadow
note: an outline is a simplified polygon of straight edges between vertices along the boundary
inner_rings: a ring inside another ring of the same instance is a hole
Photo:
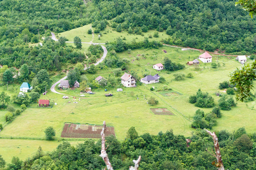
[[[244,128],[234,131],[218,131],[222,160],[225,169],[256,169],[256,133],[247,134]],[[217,169],[214,158],[213,139],[205,130],[197,130],[186,143],[183,135],[174,135],[172,130],[158,135],[138,135],[134,127],[127,132],[122,143],[115,137],[106,137],[107,153],[114,169],[128,169],[139,155],[139,169]],[[9,169],[103,169],[105,163],[99,156],[101,139],[92,139],[76,147],[63,142],[55,151],[45,154],[42,148],[24,162],[14,157]]]

